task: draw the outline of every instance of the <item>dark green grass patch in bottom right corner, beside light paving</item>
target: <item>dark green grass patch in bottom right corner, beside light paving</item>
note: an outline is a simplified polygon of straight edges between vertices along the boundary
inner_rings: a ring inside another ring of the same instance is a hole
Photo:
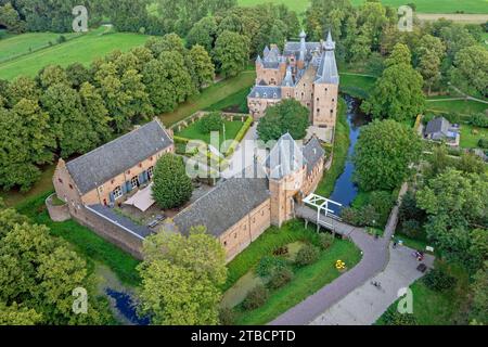
[[[445,269],[457,279],[457,285],[444,292],[429,290],[421,280],[418,280],[410,288],[413,292],[413,316],[421,325],[453,325],[460,322],[460,312],[465,310],[468,294],[468,275],[460,267],[448,266],[436,260],[436,268]],[[389,309],[396,309],[398,301]],[[376,322],[384,325],[384,318]]]

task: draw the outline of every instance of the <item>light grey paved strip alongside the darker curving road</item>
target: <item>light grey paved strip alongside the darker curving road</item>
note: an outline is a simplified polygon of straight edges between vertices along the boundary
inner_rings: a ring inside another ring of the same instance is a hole
[[[383,312],[397,300],[398,290],[410,286],[423,273],[416,270],[419,261],[412,257],[414,250],[408,247],[390,247],[389,262],[385,271],[359,286],[324,313],[316,318],[313,325],[369,325],[374,324]],[[423,261],[427,267],[434,257],[426,255]],[[380,282],[376,288],[371,281]],[[413,297],[415,300],[415,297]]]

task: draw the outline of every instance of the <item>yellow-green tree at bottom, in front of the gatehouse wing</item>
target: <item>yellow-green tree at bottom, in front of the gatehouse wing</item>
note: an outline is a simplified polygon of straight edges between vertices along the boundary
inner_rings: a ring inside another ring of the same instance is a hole
[[[143,245],[142,312],[153,324],[218,323],[221,286],[227,279],[226,252],[219,241],[194,227],[188,236],[159,232]]]

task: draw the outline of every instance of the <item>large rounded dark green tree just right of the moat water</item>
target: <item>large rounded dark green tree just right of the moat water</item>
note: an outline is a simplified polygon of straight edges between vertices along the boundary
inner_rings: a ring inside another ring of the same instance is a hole
[[[409,177],[421,151],[413,129],[395,120],[374,120],[362,128],[356,144],[354,180],[363,191],[393,190]]]

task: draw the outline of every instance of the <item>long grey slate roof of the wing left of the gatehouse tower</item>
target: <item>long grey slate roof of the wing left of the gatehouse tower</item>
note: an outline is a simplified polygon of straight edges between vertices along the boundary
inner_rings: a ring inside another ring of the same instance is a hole
[[[185,235],[191,227],[205,226],[208,233],[218,237],[269,196],[266,178],[234,177],[220,182],[172,221]]]

